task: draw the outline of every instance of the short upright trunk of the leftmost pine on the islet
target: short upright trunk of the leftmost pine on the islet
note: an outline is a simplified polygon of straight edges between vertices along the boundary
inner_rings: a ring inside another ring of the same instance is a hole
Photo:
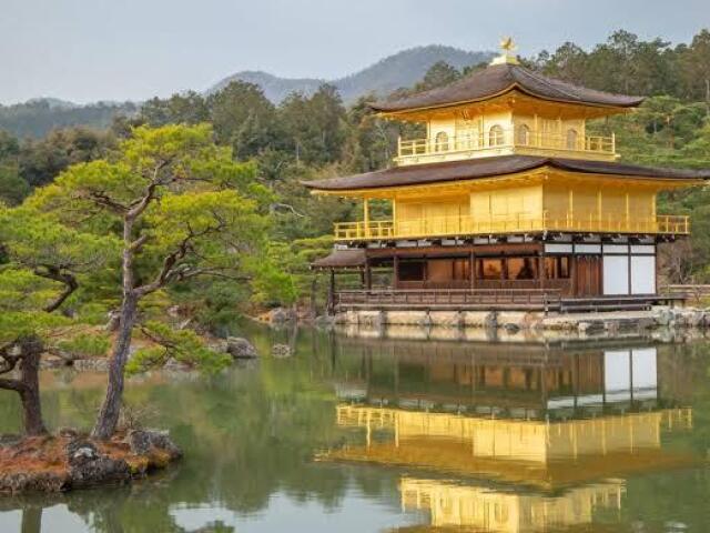
[[[22,342],[22,361],[20,362],[20,400],[24,416],[24,433],[28,435],[43,435],[47,428],[42,420],[42,402],[40,401],[40,359],[42,356],[42,341],[32,336]]]

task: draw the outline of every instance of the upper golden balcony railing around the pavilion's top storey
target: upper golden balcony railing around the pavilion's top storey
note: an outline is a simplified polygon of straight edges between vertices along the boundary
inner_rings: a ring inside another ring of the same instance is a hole
[[[457,134],[444,139],[398,140],[398,158],[439,155],[456,152],[476,152],[506,148],[534,148],[565,152],[587,152],[605,155],[616,154],[615,135],[567,135],[540,131],[498,130],[478,134]]]

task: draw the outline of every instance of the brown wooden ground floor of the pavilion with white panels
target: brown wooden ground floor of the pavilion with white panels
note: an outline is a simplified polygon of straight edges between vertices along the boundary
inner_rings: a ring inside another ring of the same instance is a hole
[[[641,309],[678,300],[660,294],[658,244],[623,235],[402,241],[342,247],[313,266],[329,271],[339,309]],[[347,273],[346,286],[338,279]]]

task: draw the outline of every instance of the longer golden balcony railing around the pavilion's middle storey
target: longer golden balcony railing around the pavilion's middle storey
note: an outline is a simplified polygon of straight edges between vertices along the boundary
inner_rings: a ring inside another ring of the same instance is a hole
[[[491,233],[520,233],[532,231],[581,231],[595,233],[662,233],[688,234],[690,220],[687,215],[658,215],[626,218],[623,214],[607,217],[566,214],[552,217],[517,214],[505,218],[477,219],[469,215],[432,217],[399,221],[377,220],[369,222],[339,222],[335,224],[338,241],[424,239],[464,237]]]

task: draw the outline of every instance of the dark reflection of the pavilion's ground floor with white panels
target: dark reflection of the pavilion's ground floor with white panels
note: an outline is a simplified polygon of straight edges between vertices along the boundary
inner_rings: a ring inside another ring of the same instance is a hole
[[[569,418],[673,406],[690,391],[672,346],[342,340],[341,349],[359,355],[359,369],[338,394],[377,405]]]

